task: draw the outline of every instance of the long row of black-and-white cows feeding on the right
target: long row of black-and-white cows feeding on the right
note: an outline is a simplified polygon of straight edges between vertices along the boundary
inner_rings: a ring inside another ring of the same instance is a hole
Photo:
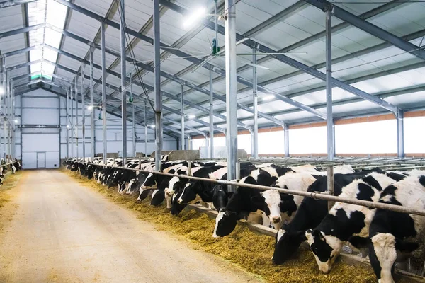
[[[137,201],[150,196],[150,204],[166,202],[171,214],[179,214],[188,204],[198,202],[217,209],[214,237],[231,233],[239,219],[254,219],[261,214],[265,226],[277,230],[273,262],[283,264],[293,258],[302,242],[307,241],[319,270],[329,272],[344,245],[351,244],[368,255],[378,281],[394,282],[395,262],[409,258],[411,271],[423,275],[425,260],[425,216],[402,214],[384,209],[369,209],[336,202],[328,211],[326,200],[288,195],[282,190],[258,190],[237,187],[229,192],[226,185],[206,180],[188,180],[178,175],[227,180],[223,162],[162,161],[162,172],[154,171],[154,160],[130,160],[124,168],[120,160],[96,159],[91,164],[82,159],[65,161],[71,171],[108,187],[118,187],[120,194],[135,194]],[[121,168],[120,168],[121,167]],[[242,163],[239,183],[277,187],[283,190],[327,192],[327,172],[314,166],[282,167],[272,163]],[[425,171],[390,172],[380,168],[354,171],[351,166],[334,168],[334,194],[346,198],[396,204],[413,209],[425,208]],[[258,217],[257,217],[258,218]]]

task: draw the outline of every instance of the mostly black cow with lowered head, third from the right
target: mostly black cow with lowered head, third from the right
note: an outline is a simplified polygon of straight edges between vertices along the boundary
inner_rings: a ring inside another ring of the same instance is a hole
[[[334,174],[334,194],[339,195],[342,187],[353,182],[358,178],[363,178],[373,171],[362,171],[351,174]],[[380,171],[384,173],[384,171]],[[307,192],[326,192],[327,176],[317,176],[309,187]],[[290,197],[288,197],[290,198]],[[289,201],[290,204],[290,201]],[[293,206],[293,209],[295,207]],[[324,216],[327,215],[327,201],[314,200],[305,197],[299,206],[296,207],[295,216],[289,224],[284,224],[276,233],[276,246],[272,261],[275,264],[283,264],[297,251],[303,241],[306,241],[305,231],[312,229],[320,224]]]

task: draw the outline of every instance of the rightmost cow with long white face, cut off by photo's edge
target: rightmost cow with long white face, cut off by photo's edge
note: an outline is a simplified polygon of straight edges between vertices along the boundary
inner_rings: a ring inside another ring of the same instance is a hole
[[[411,209],[425,207],[425,171],[386,187],[379,202]],[[425,217],[376,209],[369,238],[353,237],[353,246],[368,246],[370,265],[378,282],[393,283],[394,264],[409,258],[412,272],[423,276],[425,261]]]

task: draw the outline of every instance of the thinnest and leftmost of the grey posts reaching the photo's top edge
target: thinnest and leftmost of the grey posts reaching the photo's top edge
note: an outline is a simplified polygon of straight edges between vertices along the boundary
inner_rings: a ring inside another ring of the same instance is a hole
[[[125,91],[125,0],[120,0],[120,50],[121,50],[121,127],[123,128],[123,166],[127,164],[127,91]]]

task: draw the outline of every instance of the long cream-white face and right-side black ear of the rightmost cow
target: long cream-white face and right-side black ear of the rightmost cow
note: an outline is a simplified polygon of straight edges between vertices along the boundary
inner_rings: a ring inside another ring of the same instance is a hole
[[[378,282],[394,283],[392,274],[397,259],[397,250],[402,253],[411,253],[417,248],[419,248],[419,244],[400,240],[390,233],[378,233],[370,238],[370,265],[378,277]]]

